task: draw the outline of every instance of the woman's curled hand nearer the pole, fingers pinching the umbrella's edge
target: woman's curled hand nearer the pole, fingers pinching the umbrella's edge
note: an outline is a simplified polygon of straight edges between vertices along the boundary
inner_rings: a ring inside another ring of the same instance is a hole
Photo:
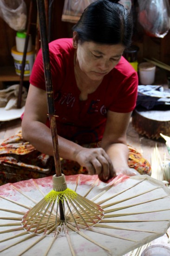
[[[102,180],[116,176],[111,159],[102,148],[82,148],[76,154],[76,161],[85,166],[90,175],[98,174]]]

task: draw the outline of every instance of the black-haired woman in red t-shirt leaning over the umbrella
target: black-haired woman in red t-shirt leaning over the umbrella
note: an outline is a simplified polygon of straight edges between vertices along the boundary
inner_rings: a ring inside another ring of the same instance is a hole
[[[124,6],[118,0],[98,0],[85,9],[73,27],[72,39],[49,44],[59,154],[65,159],[61,161],[65,174],[98,174],[105,181],[117,173],[139,174],[135,165],[128,166],[126,144],[138,85],[136,71],[122,57],[131,35],[131,17]],[[37,151],[52,156],[47,113],[40,50],[30,77],[22,136]]]

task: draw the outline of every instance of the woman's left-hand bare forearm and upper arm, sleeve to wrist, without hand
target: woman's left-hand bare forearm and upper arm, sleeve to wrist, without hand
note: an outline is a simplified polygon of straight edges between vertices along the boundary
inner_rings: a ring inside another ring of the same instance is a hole
[[[38,151],[53,155],[52,134],[50,128],[46,126],[47,114],[46,91],[30,84],[22,120],[22,136]],[[65,159],[72,159],[75,146],[80,146],[61,137],[59,140],[60,156]]]

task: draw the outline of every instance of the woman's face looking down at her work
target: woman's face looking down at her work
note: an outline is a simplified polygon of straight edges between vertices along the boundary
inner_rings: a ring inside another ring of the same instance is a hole
[[[118,64],[123,52],[124,46],[121,44],[84,42],[77,46],[76,61],[80,72],[93,81],[99,81]]]

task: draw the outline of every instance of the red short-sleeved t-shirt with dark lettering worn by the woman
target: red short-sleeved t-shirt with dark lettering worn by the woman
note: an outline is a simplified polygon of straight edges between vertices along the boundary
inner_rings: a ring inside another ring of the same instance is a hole
[[[74,48],[72,39],[58,39],[49,44],[52,86],[58,134],[78,144],[102,139],[107,111],[126,113],[135,108],[137,99],[137,72],[121,57],[107,74],[98,89],[79,100],[80,90],[74,76]],[[42,50],[36,57],[30,83],[46,90]],[[49,125],[47,120],[46,125]]]

